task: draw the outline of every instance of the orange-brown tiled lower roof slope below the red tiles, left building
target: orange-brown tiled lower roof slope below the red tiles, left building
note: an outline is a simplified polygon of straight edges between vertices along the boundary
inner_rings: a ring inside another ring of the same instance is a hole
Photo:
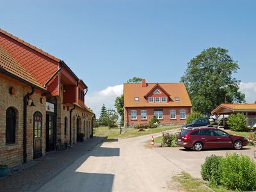
[[[19,63],[0,45],[0,67],[4,68],[10,74],[13,74],[24,81],[34,84],[35,86],[45,90],[36,79],[26,71]]]

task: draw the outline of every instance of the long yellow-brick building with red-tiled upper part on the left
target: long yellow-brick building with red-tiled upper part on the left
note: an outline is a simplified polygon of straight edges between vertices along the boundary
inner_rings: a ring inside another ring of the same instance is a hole
[[[0,29],[0,164],[15,166],[92,136],[87,86],[47,52]]]

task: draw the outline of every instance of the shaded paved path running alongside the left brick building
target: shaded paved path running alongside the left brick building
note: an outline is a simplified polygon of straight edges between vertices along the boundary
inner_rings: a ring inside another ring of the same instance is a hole
[[[88,139],[68,150],[49,152],[46,156],[36,159],[39,163],[34,166],[1,179],[0,191],[36,191],[79,157],[90,153],[90,150],[103,140],[104,138]]]

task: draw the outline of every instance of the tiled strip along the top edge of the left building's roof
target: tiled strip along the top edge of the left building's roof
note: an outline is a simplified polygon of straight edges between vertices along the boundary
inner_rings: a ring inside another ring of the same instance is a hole
[[[47,56],[48,58],[50,58],[51,60],[60,62],[59,58],[56,58],[54,56],[52,56],[51,54],[49,54],[48,52],[43,51],[42,49],[38,49],[37,47],[35,47],[34,45],[29,44],[28,42],[25,42],[24,40],[21,40],[20,38],[18,38],[17,36],[12,35],[11,33],[8,33],[7,31],[4,31],[3,29],[0,28],[0,33],[3,33],[6,36],[9,36],[10,38],[12,38],[13,40],[19,42],[20,44],[26,45],[27,47],[29,47],[30,49],[35,50],[36,52],[39,52],[40,54],[43,54],[44,56]]]

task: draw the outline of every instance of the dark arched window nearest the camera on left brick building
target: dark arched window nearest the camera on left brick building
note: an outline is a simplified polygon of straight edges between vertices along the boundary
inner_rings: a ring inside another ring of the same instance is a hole
[[[6,144],[15,143],[16,112],[13,108],[6,110]]]

